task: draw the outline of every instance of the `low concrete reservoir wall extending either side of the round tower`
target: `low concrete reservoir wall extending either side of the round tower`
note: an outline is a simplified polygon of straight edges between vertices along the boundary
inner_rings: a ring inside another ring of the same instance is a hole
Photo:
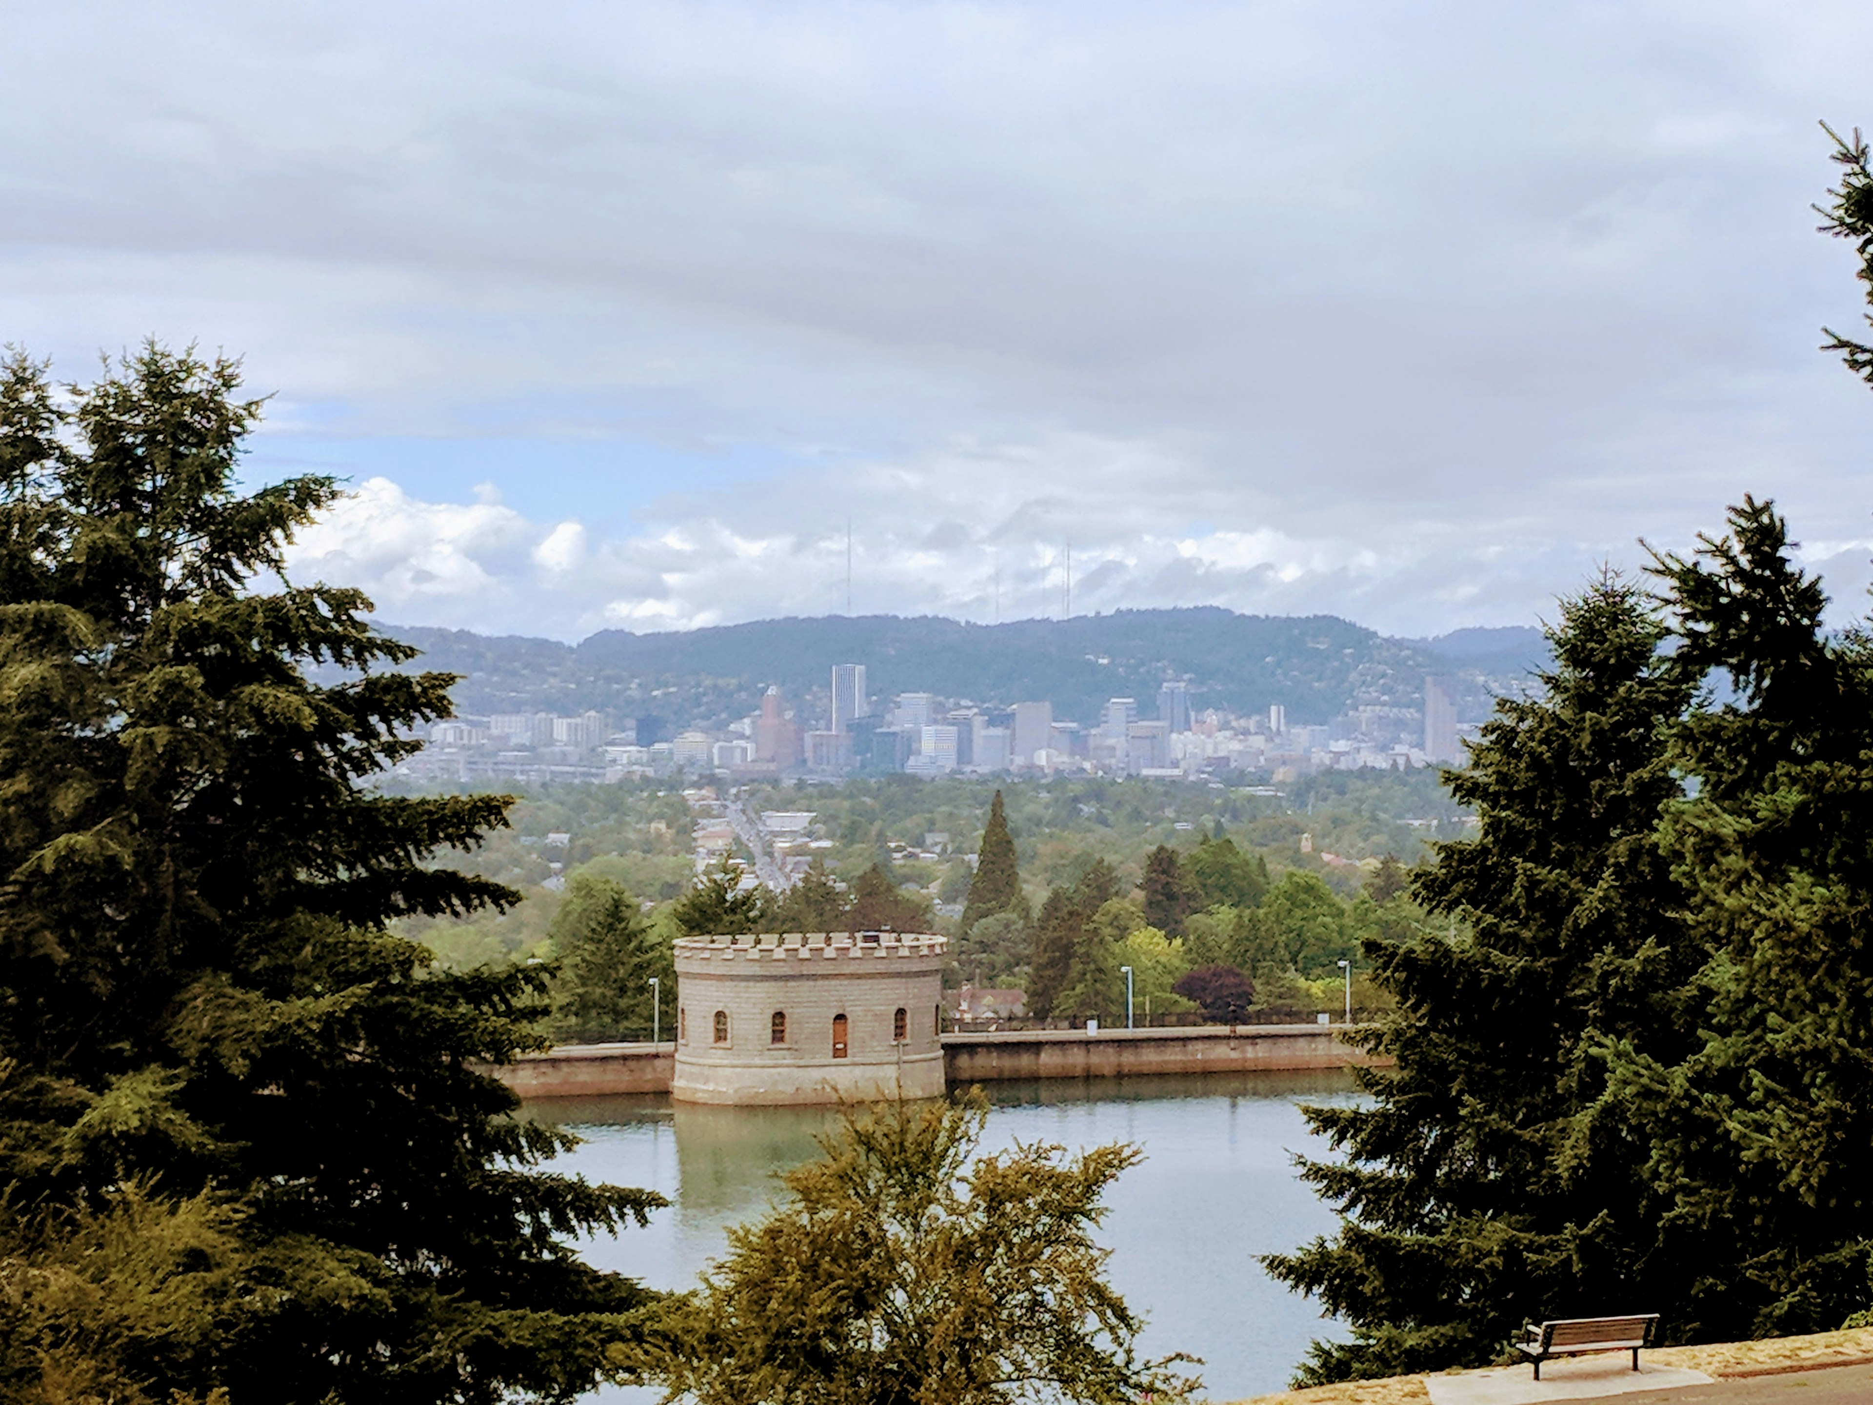
[[[1341,1042],[1343,1025],[1219,1025],[1141,1030],[944,1034],[951,1088],[1010,1079],[1143,1077],[1347,1068],[1377,1062]],[[671,1092],[676,1045],[573,1043],[491,1070],[523,1098]]]

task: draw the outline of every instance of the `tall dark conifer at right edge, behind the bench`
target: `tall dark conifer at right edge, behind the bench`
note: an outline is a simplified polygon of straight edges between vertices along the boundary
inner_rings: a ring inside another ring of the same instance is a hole
[[[1674,663],[1734,693],[1682,734],[1697,794],[1669,843],[1691,886],[1703,1043],[1673,1066],[1622,1051],[1676,1190],[1686,1330],[1830,1330],[1873,1308],[1873,637],[1830,639],[1770,504],[1658,571]]]

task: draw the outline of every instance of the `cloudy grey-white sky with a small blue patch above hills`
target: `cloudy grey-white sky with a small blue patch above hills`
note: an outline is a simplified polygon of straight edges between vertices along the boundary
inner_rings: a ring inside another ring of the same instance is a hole
[[[1873,6],[15,9],[0,341],[245,356],[388,620],[1528,622],[1774,495],[1843,607],[1815,232]]]

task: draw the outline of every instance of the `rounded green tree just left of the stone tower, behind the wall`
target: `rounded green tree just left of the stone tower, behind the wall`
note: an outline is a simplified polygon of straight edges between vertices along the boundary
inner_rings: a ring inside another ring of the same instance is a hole
[[[566,1043],[648,1040],[657,1027],[650,982],[676,998],[671,942],[652,927],[637,897],[612,879],[575,873],[549,929],[560,974],[549,1032]]]

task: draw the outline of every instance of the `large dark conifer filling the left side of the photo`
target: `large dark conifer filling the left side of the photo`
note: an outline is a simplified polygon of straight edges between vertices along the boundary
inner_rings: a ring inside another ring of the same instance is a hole
[[[539,1171],[573,1139],[481,1072],[538,1047],[538,970],[448,974],[386,931],[515,901],[425,862],[509,802],[365,785],[453,680],[403,673],[356,590],[255,584],[337,485],[240,493],[238,388],[155,345],[64,397],[0,367],[7,1251],[43,1285],[99,1225],[178,1246],[97,1324],[124,1399],[569,1398],[646,1298],[569,1240],[661,1201]],[[9,1338],[0,1369],[69,1345]]]

